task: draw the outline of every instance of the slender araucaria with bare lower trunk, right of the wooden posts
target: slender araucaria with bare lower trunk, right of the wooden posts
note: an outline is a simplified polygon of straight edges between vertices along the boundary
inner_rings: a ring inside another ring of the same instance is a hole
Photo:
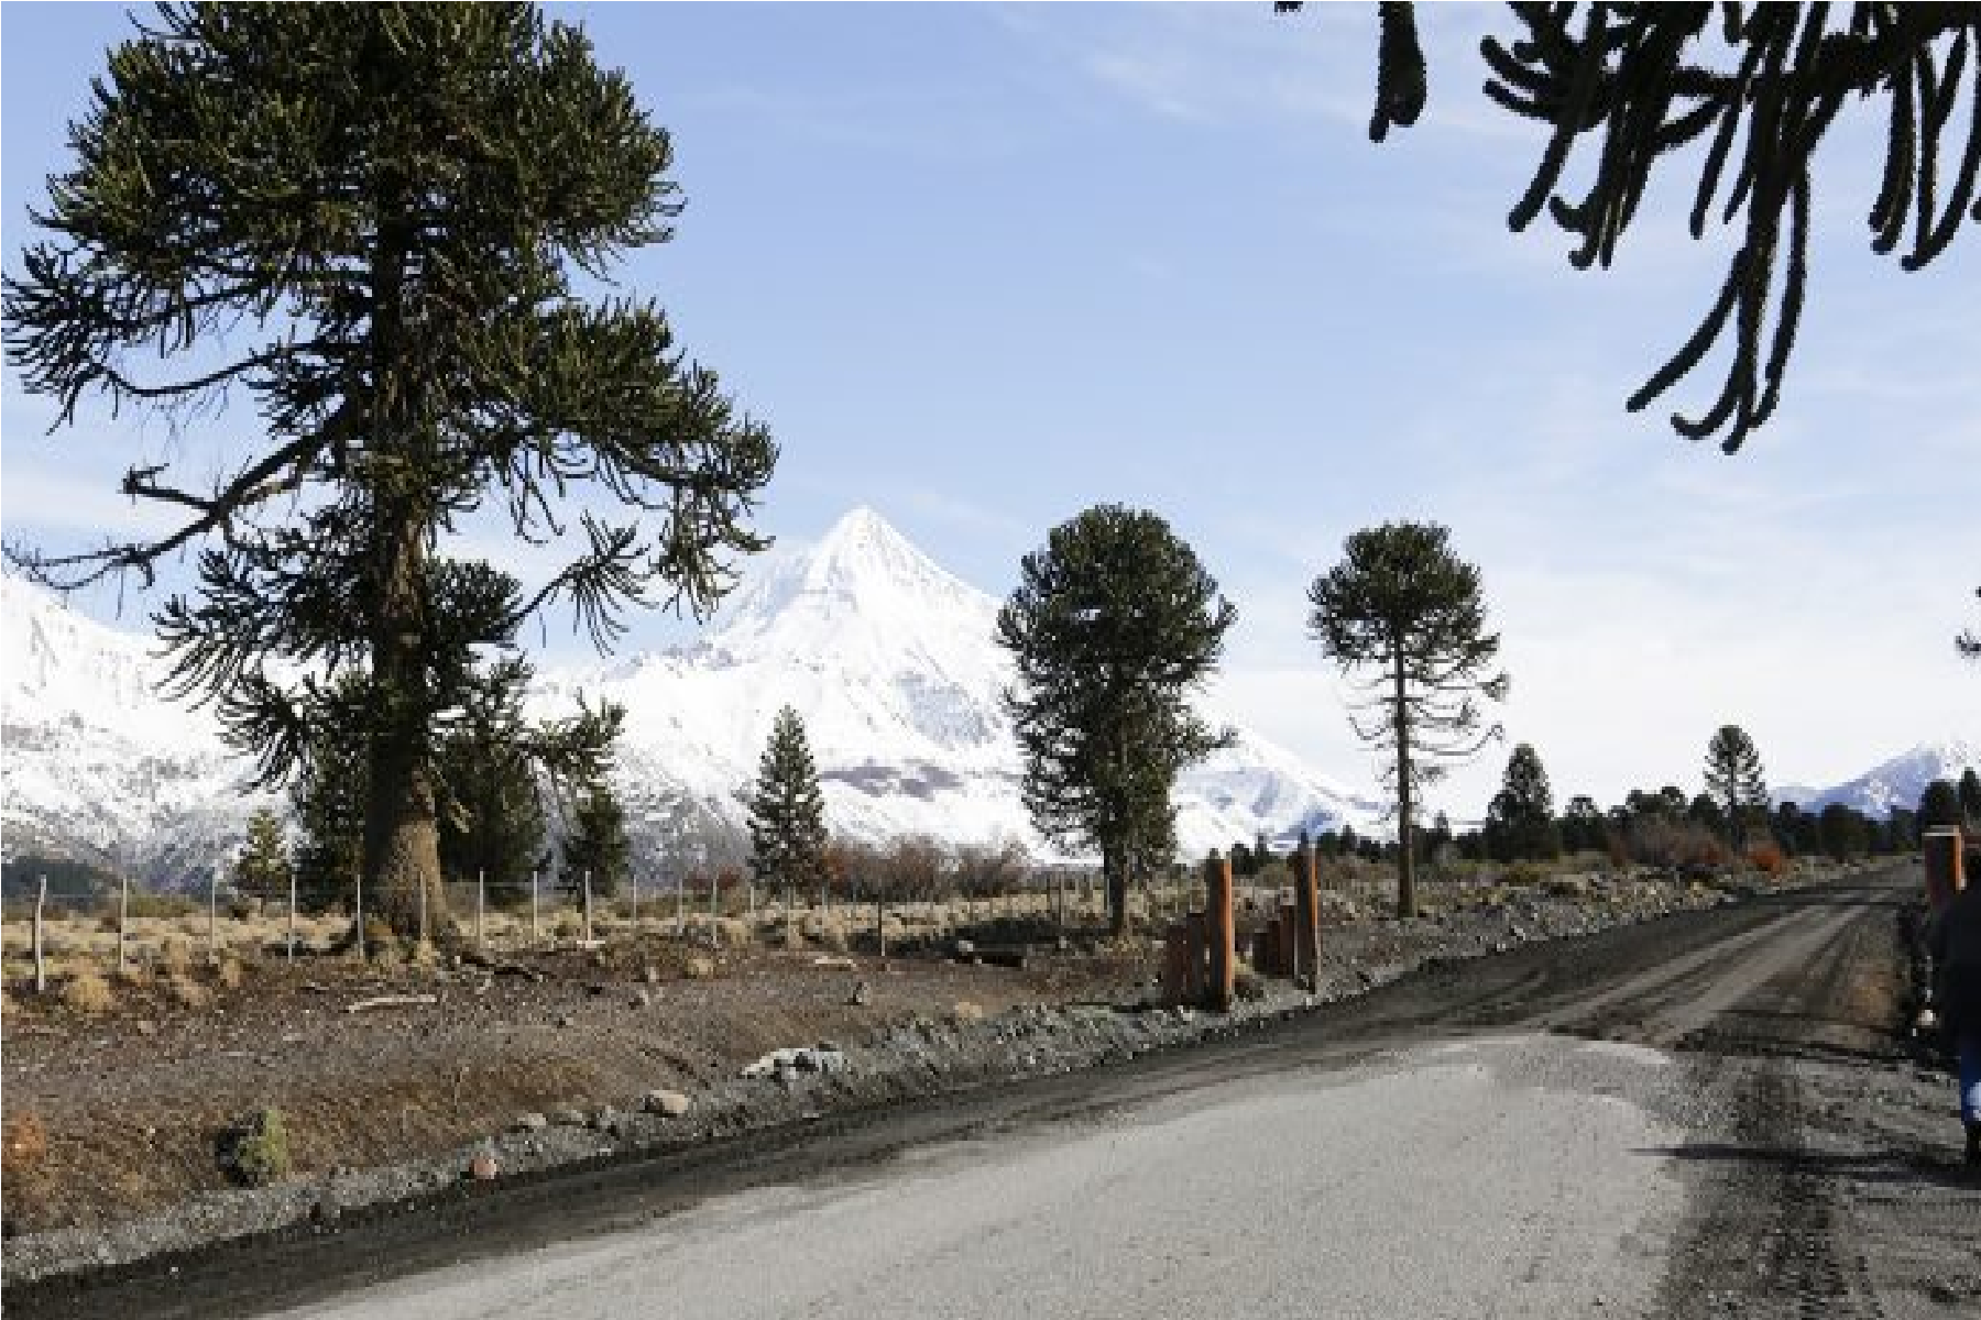
[[[1486,631],[1480,570],[1436,522],[1385,522],[1347,538],[1307,588],[1307,627],[1343,673],[1365,671],[1349,714],[1385,752],[1397,790],[1397,912],[1416,914],[1416,794],[1500,736],[1482,701],[1504,701],[1500,633]]]

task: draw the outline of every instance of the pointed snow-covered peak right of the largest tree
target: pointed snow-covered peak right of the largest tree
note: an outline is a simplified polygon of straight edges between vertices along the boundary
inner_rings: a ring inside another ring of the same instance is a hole
[[[818,546],[741,588],[709,639],[559,675],[541,689],[543,708],[569,708],[576,693],[626,705],[634,817],[666,817],[687,801],[739,821],[735,792],[755,778],[779,707],[792,705],[836,829],[1036,847],[1000,703],[1012,671],[992,639],[996,610],[880,515],[856,509]],[[1371,829],[1381,811],[1248,732],[1183,776],[1177,805],[1185,853],[1260,829],[1284,835],[1343,819]]]

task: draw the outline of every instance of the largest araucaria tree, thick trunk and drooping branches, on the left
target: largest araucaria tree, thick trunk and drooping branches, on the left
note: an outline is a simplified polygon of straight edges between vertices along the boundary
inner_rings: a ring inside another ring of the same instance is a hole
[[[6,285],[26,388],[59,424],[89,396],[240,400],[265,445],[210,481],[133,463],[123,493],[172,519],[156,536],[10,558],[149,586],[200,548],[158,625],[265,782],[333,718],[323,675],[365,673],[365,906],[412,930],[422,887],[444,910],[434,734],[475,649],[555,602],[600,647],[628,606],[699,615],[765,544],[769,433],[656,305],[573,285],[670,236],[668,135],[527,4],[174,4],[111,51],[69,142]],[[477,513],[571,530],[574,556],[527,598],[440,558]]]

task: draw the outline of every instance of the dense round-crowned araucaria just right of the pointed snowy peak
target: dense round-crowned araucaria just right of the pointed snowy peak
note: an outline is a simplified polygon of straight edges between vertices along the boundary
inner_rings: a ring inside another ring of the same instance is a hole
[[[1097,505],[1024,556],[996,637],[1018,667],[1004,693],[1042,835],[1097,847],[1107,914],[1127,930],[1135,871],[1175,853],[1177,772],[1226,746],[1191,710],[1238,610],[1153,513]]]

